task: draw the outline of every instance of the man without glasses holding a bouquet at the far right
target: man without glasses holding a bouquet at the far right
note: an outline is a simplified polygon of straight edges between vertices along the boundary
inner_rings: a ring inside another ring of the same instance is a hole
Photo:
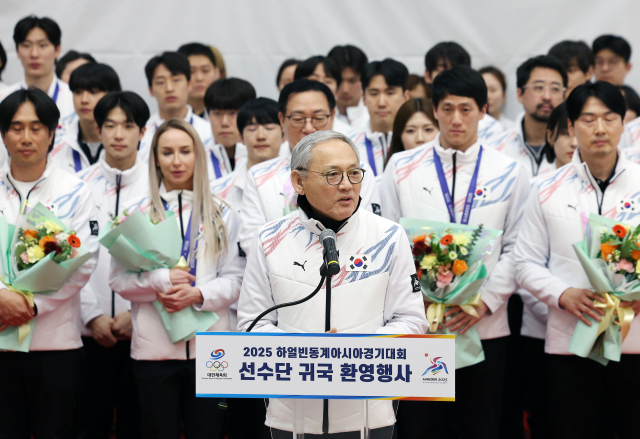
[[[573,244],[585,234],[590,214],[635,228],[640,195],[640,167],[628,162],[617,144],[623,134],[624,98],[604,82],[576,87],[567,101],[569,131],[578,139],[571,164],[539,181],[526,206],[516,244],[518,283],[549,306],[546,345],[548,427],[550,437],[596,438],[618,434],[635,437],[631,419],[613,424],[598,420],[598,401],[616,398],[631,410],[640,408],[640,326],[637,319],[622,344],[620,362],[606,367],[569,352],[573,332],[585,315],[600,319],[601,298],[582,268]],[[636,314],[640,302],[629,304]],[[591,384],[586,385],[585,380]],[[617,389],[625,388],[625,392]],[[597,396],[594,396],[597,395]],[[595,399],[594,399],[595,398]]]

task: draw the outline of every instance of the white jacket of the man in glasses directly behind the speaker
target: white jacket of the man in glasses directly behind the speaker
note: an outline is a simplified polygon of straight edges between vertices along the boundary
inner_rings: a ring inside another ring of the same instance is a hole
[[[242,228],[240,246],[247,254],[252,249],[251,241],[258,227],[281,218],[285,213],[285,186],[291,184],[291,157],[277,157],[252,166],[247,172],[247,180],[242,198]],[[366,169],[360,197],[361,209],[380,214],[380,195],[371,168]]]

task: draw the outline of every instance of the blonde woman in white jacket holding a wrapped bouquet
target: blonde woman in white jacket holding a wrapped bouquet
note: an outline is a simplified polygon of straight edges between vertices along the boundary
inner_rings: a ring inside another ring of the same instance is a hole
[[[210,331],[235,330],[228,307],[238,300],[245,260],[238,255],[235,214],[211,193],[206,166],[191,125],[171,119],[158,128],[149,154],[148,213],[154,221],[175,213],[190,243],[183,253],[190,271],[138,274],[112,263],[111,288],[132,302],[131,356],[144,438],[178,439],[181,424],[187,439],[223,437],[218,400],[195,396],[195,339],[171,343],[152,304],[158,300],[170,313],[188,306],[214,311],[220,319]]]

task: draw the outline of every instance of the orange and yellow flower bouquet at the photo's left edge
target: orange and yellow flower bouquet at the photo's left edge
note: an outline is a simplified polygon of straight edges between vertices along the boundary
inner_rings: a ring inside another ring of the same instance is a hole
[[[34,294],[59,290],[91,259],[75,231],[41,203],[20,216],[15,226],[0,217],[0,253],[3,283],[31,306]],[[34,325],[31,319],[0,332],[0,350],[29,352]]]

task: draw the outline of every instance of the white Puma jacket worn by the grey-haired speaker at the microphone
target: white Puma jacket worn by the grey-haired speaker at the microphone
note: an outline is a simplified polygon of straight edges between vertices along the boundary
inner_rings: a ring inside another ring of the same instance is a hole
[[[266,309],[299,300],[315,289],[322,264],[318,235],[323,229],[320,222],[309,219],[302,210],[259,229],[240,293],[239,330],[246,331]],[[404,230],[358,209],[337,235],[341,270],[332,278],[331,326],[347,333],[424,334],[424,304],[421,294],[412,292],[415,268]],[[363,272],[347,271],[349,254],[367,255],[369,267]],[[307,268],[302,270],[294,262]],[[303,304],[263,317],[254,331],[324,332],[325,300],[322,289]],[[321,433],[322,404],[322,400],[306,401],[305,433]],[[271,399],[266,424],[291,431],[292,406],[292,400]],[[329,401],[329,433],[359,429],[361,406],[359,401]],[[372,402],[369,416],[371,428],[395,421],[390,401]]]

